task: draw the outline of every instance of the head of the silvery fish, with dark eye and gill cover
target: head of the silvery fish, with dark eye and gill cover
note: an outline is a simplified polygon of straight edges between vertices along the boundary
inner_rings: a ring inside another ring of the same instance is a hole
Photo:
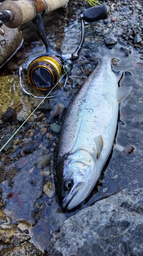
[[[65,156],[56,167],[59,204],[71,210],[81,204],[96,184],[96,164],[92,155],[77,150]]]

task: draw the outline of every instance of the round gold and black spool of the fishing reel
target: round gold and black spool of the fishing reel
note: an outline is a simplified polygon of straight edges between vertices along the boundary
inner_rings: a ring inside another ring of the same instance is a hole
[[[47,91],[59,81],[64,62],[55,55],[42,55],[25,64],[24,73],[28,82],[39,90]]]

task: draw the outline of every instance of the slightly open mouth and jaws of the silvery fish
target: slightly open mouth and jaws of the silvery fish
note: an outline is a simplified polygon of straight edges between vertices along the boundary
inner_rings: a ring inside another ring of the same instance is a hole
[[[70,210],[68,209],[68,206],[72,200],[74,200],[75,196],[77,195],[78,191],[83,187],[83,182],[79,182],[74,189],[71,191],[70,195],[65,197],[63,199],[63,202],[61,203],[61,207],[63,210]],[[76,207],[78,204],[76,204],[74,207]],[[72,207],[72,208],[74,208]],[[72,209],[71,208],[71,209]]]

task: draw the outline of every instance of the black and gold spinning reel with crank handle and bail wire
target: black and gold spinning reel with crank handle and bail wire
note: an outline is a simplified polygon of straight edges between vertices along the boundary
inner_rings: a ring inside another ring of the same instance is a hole
[[[108,7],[103,4],[97,7],[92,7],[79,16],[81,22],[81,40],[75,52],[68,55],[60,55],[50,45],[45,34],[41,13],[38,13],[33,19],[33,24],[40,38],[44,42],[46,53],[39,54],[38,56],[28,60],[26,64],[19,67],[19,81],[22,90],[26,94],[32,95],[35,98],[45,98],[42,96],[35,96],[25,90],[22,86],[23,74],[27,75],[28,82],[36,89],[43,91],[51,90],[63,77],[65,78],[65,88],[73,67],[72,61],[79,58],[84,42],[84,20],[86,22],[95,22],[100,19],[106,19],[108,13]],[[47,96],[46,98],[50,97],[53,96]]]

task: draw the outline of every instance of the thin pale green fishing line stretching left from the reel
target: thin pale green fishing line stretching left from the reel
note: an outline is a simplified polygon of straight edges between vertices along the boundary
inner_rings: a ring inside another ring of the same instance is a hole
[[[42,99],[42,101],[39,103],[39,105],[36,107],[36,109],[30,114],[30,116],[27,117],[27,119],[20,125],[20,127],[16,130],[16,132],[10,137],[10,139],[5,143],[5,145],[1,148],[0,152],[4,149],[4,147],[9,143],[9,141],[15,136],[15,134],[21,129],[23,124],[34,114],[34,112],[39,108],[41,103],[48,97],[48,95],[52,92],[52,90],[57,86],[57,84],[62,80],[62,78],[66,75],[66,73],[69,71],[68,69],[65,74],[59,79],[59,81],[55,84],[55,86],[48,92],[48,94],[45,96],[45,98]],[[53,96],[54,97],[54,96]]]

